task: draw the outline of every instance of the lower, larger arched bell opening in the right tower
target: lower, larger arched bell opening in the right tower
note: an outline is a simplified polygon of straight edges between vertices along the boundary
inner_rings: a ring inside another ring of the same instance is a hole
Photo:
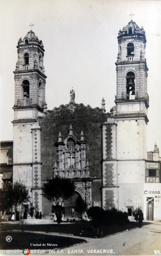
[[[128,72],[126,75],[127,100],[135,100],[135,74]]]

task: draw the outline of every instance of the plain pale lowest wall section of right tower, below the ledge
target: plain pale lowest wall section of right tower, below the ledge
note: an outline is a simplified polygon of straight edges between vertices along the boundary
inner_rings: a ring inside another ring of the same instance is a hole
[[[119,210],[127,212],[127,206],[135,209],[138,206],[142,207],[143,204],[143,189],[145,180],[145,161],[144,160],[131,160],[131,161],[118,161],[118,204]]]

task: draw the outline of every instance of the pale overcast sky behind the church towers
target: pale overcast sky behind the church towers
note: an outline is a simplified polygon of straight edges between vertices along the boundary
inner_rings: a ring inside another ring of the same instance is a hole
[[[119,29],[133,20],[146,31],[148,71],[148,150],[161,151],[161,1],[148,0],[0,0],[1,140],[13,140],[14,74],[17,42],[34,26],[45,48],[48,109],[70,101],[115,105]]]

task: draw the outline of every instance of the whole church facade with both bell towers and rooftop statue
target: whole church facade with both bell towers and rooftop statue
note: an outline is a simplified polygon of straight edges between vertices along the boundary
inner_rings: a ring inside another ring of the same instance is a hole
[[[44,218],[52,204],[42,196],[42,187],[56,175],[76,185],[73,197],[64,202],[65,220],[73,217],[77,197],[88,207],[116,207],[129,216],[138,206],[146,212],[149,97],[145,31],[131,20],[117,38],[117,94],[110,113],[105,111],[104,99],[101,108],[77,104],[73,90],[69,104],[47,110],[43,43],[32,30],[18,41],[13,181],[30,189],[35,211],[43,212]],[[158,219],[159,213],[155,214]]]

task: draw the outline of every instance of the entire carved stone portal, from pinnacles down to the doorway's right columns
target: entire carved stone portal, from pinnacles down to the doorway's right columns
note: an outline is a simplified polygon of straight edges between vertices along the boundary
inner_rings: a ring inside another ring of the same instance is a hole
[[[61,132],[59,132],[58,142],[55,143],[58,149],[58,158],[54,163],[53,175],[74,181],[75,191],[90,207],[91,178],[89,178],[89,162],[86,159],[86,144],[83,131],[81,131],[80,140],[74,137],[72,124],[70,124],[69,135],[64,141]]]

